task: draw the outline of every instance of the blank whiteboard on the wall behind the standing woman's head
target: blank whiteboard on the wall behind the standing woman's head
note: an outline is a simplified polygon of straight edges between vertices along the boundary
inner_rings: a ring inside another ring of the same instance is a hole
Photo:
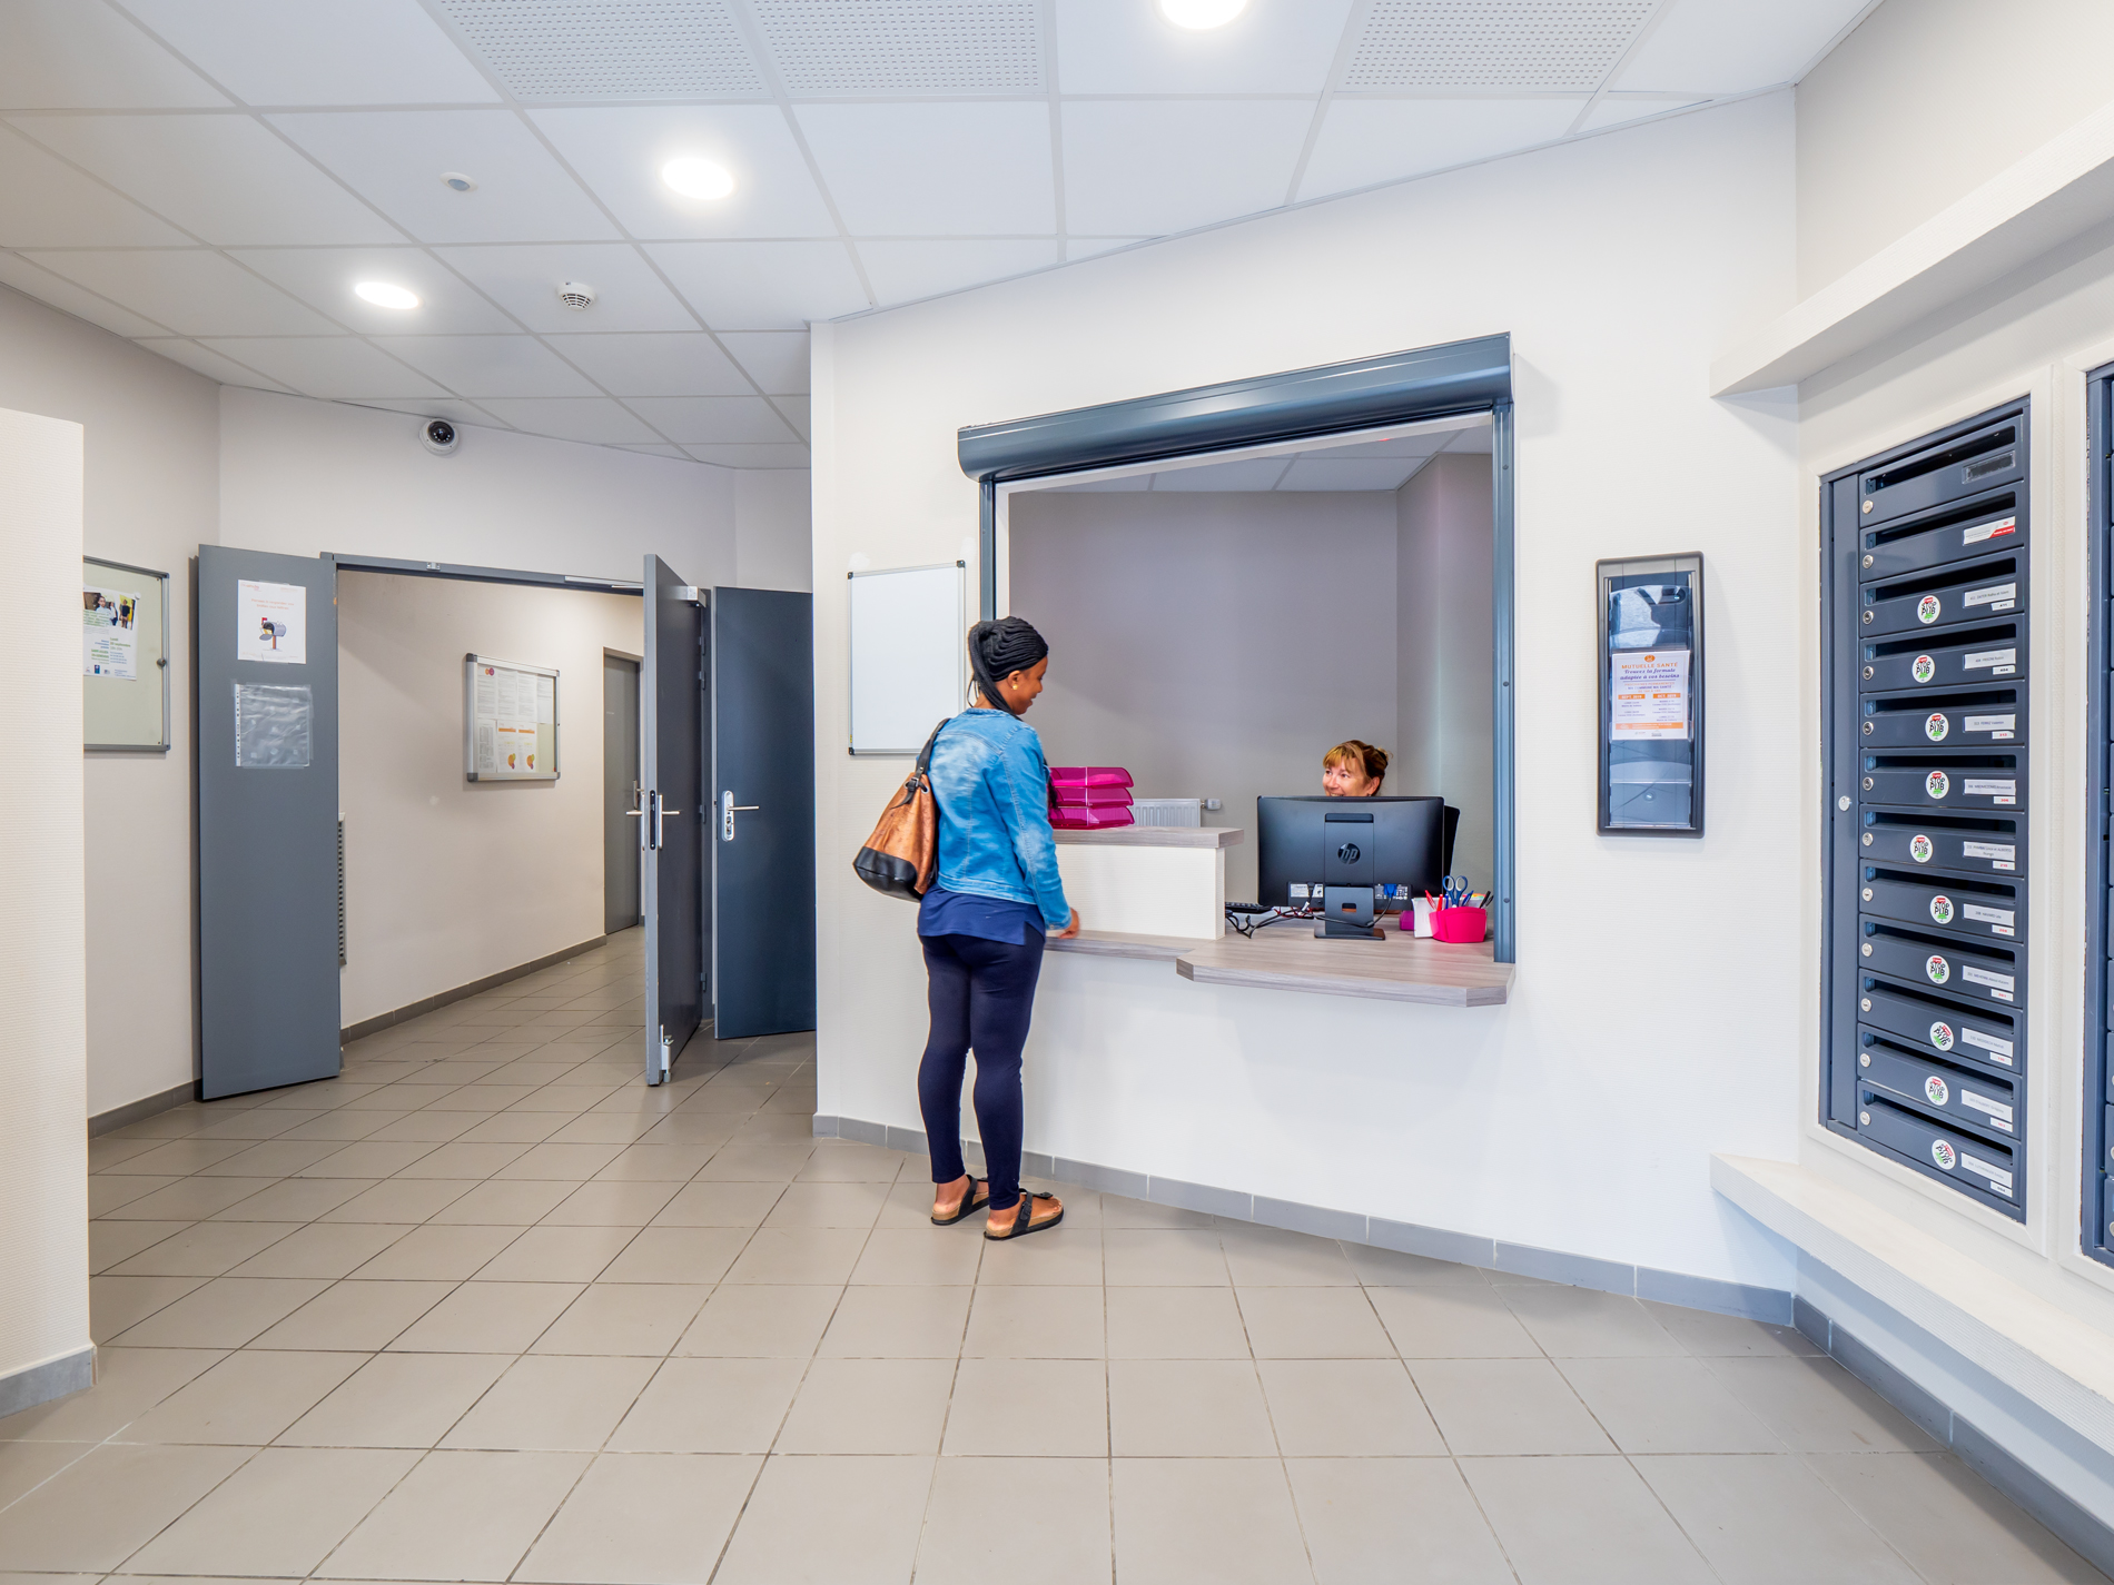
[[[852,573],[854,754],[915,754],[968,693],[968,566]]]

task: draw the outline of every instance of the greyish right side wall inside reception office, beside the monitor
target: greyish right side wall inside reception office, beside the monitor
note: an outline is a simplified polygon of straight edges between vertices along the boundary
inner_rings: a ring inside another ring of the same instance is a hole
[[[1492,879],[1490,459],[1442,452],[1395,490],[1402,552],[1399,767],[1393,792],[1444,792],[1461,812],[1454,873]]]

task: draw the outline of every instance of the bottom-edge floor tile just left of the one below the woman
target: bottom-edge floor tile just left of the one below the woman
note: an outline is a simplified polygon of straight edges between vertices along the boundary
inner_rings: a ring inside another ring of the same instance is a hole
[[[903,1585],[930,1490],[930,1458],[772,1458],[712,1585]]]

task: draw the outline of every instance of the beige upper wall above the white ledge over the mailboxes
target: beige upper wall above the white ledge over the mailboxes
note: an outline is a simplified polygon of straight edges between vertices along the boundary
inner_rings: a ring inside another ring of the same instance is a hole
[[[2114,99],[2106,0],[1886,0],[1799,82],[1799,296]]]

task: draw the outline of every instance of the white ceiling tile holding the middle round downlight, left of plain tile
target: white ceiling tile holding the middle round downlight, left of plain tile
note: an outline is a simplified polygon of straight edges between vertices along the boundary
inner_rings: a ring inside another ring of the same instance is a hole
[[[632,237],[831,237],[837,226],[767,104],[537,110],[533,120]],[[734,194],[685,199],[662,182],[676,156],[717,161]]]

